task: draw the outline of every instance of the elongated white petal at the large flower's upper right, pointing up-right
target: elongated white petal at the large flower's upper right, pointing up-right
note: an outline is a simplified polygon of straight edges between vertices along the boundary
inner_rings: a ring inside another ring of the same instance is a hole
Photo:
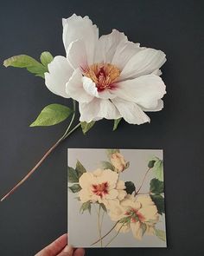
[[[143,49],[127,62],[120,74],[120,80],[132,79],[141,75],[148,75],[160,69],[166,62],[165,54],[157,49]]]

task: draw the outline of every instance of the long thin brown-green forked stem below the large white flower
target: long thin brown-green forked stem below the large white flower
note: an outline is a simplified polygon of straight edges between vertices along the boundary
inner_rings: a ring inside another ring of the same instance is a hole
[[[72,119],[71,119],[71,121],[70,121],[70,123],[69,123],[69,125],[68,125],[68,127],[67,127],[67,129],[66,129],[66,131],[65,131],[65,133],[61,136],[61,138],[60,138],[58,141],[56,141],[56,142],[54,143],[54,145],[53,145],[51,148],[48,149],[48,151],[46,152],[46,154],[44,154],[44,155],[42,156],[41,160],[36,163],[35,167],[33,167],[33,168],[29,171],[29,173],[26,174],[26,175],[22,178],[22,180],[19,181],[19,182],[16,184],[15,187],[13,187],[12,189],[10,189],[10,191],[9,191],[7,194],[5,194],[5,195],[3,196],[3,198],[1,199],[1,201],[5,200],[7,197],[9,197],[11,194],[13,194],[13,193],[16,191],[16,189],[22,185],[22,183],[24,183],[25,181],[27,181],[27,180],[29,179],[29,177],[35,172],[35,170],[36,170],[38,167],[41,166],[41,163],[48,157],[48,155],[51,154],[51,153],[54,151],[54,149],[57,148],[57,146],[58,146],[59,144],[61,144],[61,141],[64,141],[69,135],[71,135],[71,134],[73,133],[73,131],[74,131],[76,128],[79,128],[79,127],[80,127],[80,123],[78,123],[71,131],[69,131],[69,129],[71,128],[71,126],[72,126],[72,124],[73,124],[74,117],[75,117],[75,102],[73,101],[73,116],[72,116]]]

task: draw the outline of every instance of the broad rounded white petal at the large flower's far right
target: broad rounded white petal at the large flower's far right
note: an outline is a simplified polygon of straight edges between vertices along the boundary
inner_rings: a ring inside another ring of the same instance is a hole
[[[165,84],[160,76],[143,75],[135,79],[118,82],[114,94],[129,101],[136,102],[143,108],[156,108],[158,100],[166,93]]]

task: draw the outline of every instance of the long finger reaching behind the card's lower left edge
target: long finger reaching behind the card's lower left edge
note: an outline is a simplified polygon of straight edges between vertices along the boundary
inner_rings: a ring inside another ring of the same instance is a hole
[[[67,233],[63,234],[52,244],[46,246],[41,252],[35,254],[35,256],[56,256],[65,246],[67,246]]]

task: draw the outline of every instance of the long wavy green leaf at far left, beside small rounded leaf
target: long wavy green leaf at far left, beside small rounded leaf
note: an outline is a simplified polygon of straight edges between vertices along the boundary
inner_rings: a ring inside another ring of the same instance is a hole
[[[34,58],[27,55],[12,56],[4,60],[3,65],[7,67],[25,68],[30,73],[44,78],[44,73],[48,72],[48,68],[37,62]]]

